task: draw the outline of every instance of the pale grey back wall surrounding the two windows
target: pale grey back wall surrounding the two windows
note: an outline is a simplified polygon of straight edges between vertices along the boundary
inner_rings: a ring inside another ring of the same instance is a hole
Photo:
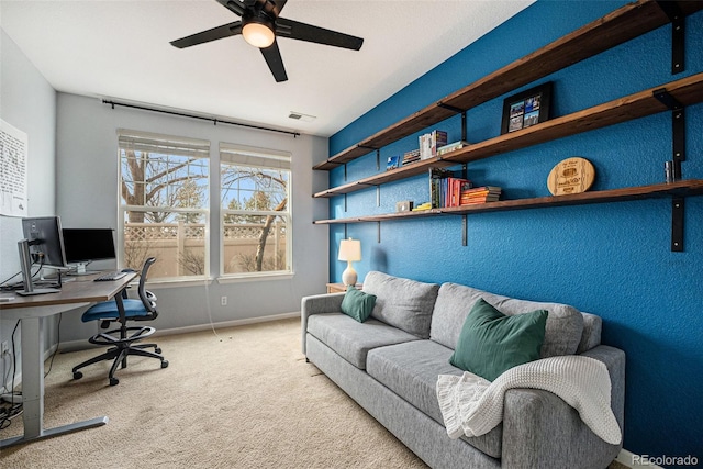
[[[312,193],[327,186],[327,174],[312,171],[327,157],[327,139],[252,130],[227,124],[178,118],[116,107],[97,98],[58,93],[57,98],[57,212],[68,227],[118,226],[116,130],[131,129],[211,142],[211,174],[219,168],[217,143],[287,150],[292,154],[292,215],[294,277],[287,280],[257,280],[237,283],[165,287],[157,290],[160,315],[157,328],[174,328],[263,317],[297,312],[300,299],[323,293],[327,281],[327,228],[314,226],[314,219],[326,217],[327,203]],[[216,179],[211,180],[214,186]],[[217,201],[211,187],[211,200]],[[219,227],[219,213],[211,213],[211,230]],[[212,273],[219,271],[220,246],[211,246]],[[220,298],[228,297],[221,306]],[[62,340],[80,340],[96,331],[81,324],[79,314],[64,315]]]

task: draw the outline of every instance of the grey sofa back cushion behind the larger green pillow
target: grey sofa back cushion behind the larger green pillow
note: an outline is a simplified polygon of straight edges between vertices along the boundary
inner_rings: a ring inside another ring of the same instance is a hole
[[[466,316],[479,298],[483,298],[506,315],[547,310],[549,314],[539,358],[572,355],[577,351],[583,333],[583,315],[576,308],[560,303],[517,300],[457,283],[444,283],[439,288],[432,315],[431,338],[455,348]]]

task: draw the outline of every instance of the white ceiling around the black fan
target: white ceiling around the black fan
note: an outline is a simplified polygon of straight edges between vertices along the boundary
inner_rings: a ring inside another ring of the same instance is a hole
[[[169,44],[238,20],[214,0],[1,0],[0,25],[58,91],[330,136],[533,1],[289,0],[282,18],[365,41],[280,38],[281,83],[242,36]]]

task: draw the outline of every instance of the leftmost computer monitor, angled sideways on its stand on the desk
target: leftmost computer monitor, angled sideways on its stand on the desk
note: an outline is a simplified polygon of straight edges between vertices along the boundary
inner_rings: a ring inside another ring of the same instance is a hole
[[[22,232],[24,239],[18,243],[24,290],[18,294],[55,293],[54,288],[35,289],[32,279],[32,265],[52,267],[59,270],[58,286],[60,287],[60,270],[67,269],[66,255],[64,253],[64,237],[62,222],[58,216],[40,216],[22,219]]]

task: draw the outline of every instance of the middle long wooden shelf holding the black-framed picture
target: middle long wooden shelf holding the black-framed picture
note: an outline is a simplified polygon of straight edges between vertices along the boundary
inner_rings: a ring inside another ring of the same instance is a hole
[[[671,97],[683,105],[696,104],[703,101],[703,72],[620,98],[604,104],[578,111],[572,114],[555,118],[516,132],[468,145],[440,157],[425,159],[398,169],[379,172],[343,186],[330,188],[313,194],[313,197],[328,198],[343,193],[355,192],[372,186],[380,186],[384,182],[427,174],[427,168],[431,166],[448,167],[462,163],[476,161],[503,153],[526,148],[532,145],[554,141],[556,138],[576,135],[582,132],[668,111],[669,109],[654,96],[655,91],[659,91],[661,89],[666,89]]]

